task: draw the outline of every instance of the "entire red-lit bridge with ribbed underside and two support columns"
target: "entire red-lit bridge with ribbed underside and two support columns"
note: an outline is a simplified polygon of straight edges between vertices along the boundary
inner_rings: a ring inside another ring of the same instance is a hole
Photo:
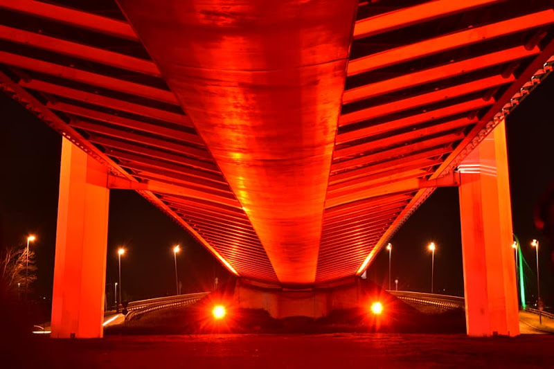
[[[245,285],[320,301],[439,186],[460,186],[468,332],[517,334],[503,120],[553,25],[549,0],[0,0],[0,87],[66,138],[53,336],[102,335],[110,188]]]

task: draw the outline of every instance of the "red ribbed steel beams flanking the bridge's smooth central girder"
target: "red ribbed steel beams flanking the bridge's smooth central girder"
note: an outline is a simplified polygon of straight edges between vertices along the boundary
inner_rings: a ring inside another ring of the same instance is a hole
[[[552,69],[550,1],[415,3],[359,3],[314,283],[364,271]],[[139,191],[233,273],[278,284],[284,261],[116,3],[86,4],[0,0],[1,89],[108,165],[112,188]]]

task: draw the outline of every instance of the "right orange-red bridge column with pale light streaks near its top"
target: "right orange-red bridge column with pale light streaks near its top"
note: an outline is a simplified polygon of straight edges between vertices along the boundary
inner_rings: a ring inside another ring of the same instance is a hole
[[[459,170],[467,334],[517,336],[519,315],[504,122],[467,156]]]

